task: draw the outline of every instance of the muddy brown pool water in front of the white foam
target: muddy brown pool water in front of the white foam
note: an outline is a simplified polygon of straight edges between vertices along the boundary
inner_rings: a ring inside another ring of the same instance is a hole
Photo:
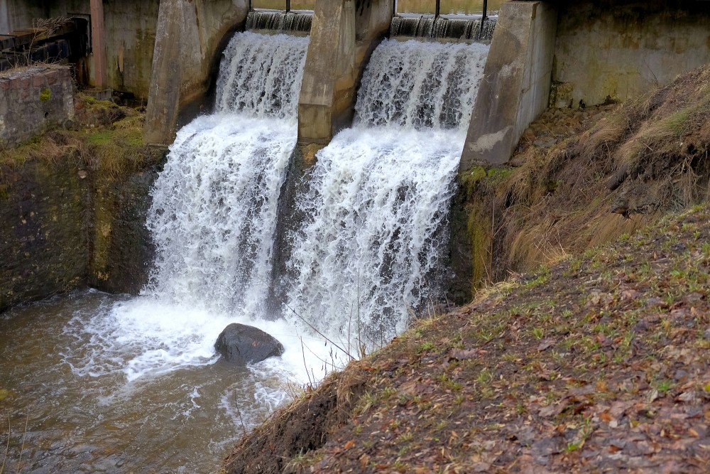
[[[90,291],[0,314],[5,473],[217,473],[242,426],[273,410],[255,387],[282,381],[220,362],[128,382],[83,330],[121,299]]]

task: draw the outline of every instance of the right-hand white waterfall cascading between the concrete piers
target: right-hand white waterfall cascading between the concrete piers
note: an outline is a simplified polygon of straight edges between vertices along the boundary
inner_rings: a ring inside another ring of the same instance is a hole
[[[378,46],[354,127],[317,154],[297,198],[307,220],[293,236],[288,311],[373,347],[438,301],[444,224],[487,52],[481,44]]]

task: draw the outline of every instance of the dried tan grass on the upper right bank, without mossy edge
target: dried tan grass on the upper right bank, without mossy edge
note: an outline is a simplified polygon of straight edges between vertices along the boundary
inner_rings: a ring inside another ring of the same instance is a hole
[[[508,268],[554,263],[706,198],[709,79],[702,68],[546,153],[524,149],[498,191],[510,201],[501,223]]]

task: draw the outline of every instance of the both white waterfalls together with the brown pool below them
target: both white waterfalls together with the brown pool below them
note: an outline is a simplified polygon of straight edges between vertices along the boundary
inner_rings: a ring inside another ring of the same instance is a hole
[[[301,218],[287,234],[278,221],[308,44],[247,32],[226,47],[214,113],[178,132],[155,181],[141,296],[89,291],[7,313],[15,342],[0,355],[13,362],[0,382],[60,400],[31,407],[50,429],[28,433],[28,472],[202,472],[291,383],[317,381],[441,301],[449,200],[488,47],[381,43],[354,125],[293,178],[287,212]],[[277,242],[289,247],[283,266]],[[274,304],[275,286],[285,291]],[[219,360],[214,340],[234,322],[273,335],[283,357]],[[38,355],[38,338],[58,350]],[[343,341],[358,349],[343,354]]]

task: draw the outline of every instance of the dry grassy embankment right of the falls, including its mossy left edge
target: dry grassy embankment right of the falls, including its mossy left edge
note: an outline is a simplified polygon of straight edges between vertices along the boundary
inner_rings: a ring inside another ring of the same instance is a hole
[[[474,284],[584,252],[699,202],[709,143],[707,67],[621,106],[546,112],[523,135],[515,168],[461,175]]]

